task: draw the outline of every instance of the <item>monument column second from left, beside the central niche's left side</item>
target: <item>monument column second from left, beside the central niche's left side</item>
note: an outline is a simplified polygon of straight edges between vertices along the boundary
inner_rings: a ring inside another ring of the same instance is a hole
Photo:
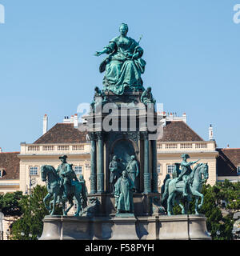
[[[103,165],[103,135],[101,132],[98,136],[98,170],[97,170],[97,192],[104,192],[104,165]]]

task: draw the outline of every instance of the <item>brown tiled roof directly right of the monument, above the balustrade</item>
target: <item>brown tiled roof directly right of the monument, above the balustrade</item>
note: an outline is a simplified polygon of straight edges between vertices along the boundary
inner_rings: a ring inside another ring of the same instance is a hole
[[[169,121],[158,142],[202,142],[203,139],[183,121]]]

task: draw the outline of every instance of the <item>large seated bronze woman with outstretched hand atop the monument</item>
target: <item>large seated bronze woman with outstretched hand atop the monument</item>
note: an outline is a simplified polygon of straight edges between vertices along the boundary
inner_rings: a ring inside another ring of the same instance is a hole
[[[144,90],[141,74],[144,73],[146,62],[142,59],[143,50],[139,42],[126,36],[128,26],[122,23],[120,35],[113,38],[108,46],[94,55],[109,54],[100,65],[100,72],[105,72],[103,78],[104,90],[122,95],[126,87],[130,90]]]

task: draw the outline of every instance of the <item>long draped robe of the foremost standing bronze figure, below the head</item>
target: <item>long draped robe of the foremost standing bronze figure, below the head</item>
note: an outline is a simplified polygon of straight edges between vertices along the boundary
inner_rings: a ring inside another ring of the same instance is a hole
[[[118,195],[117,210],[119,211],[134,211],[133,192],[134,183],[130,178],[118,178],[115,184],[115,196]]]

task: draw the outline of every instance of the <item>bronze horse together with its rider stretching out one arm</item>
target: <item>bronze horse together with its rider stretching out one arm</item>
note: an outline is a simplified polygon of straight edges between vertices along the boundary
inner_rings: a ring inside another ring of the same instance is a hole
[[[204,199],[203,194],[201,194],[202,183],[206,182],[208,178],[208,165],[207,163],[198,163],[192,170],[190,166],[199,160],[187,162],[187,158],[190,158],[188,154],[182,154],[182,162],[175,163],[173,178],[170,178],[169,174],[167,174],[168,177],[164,181],[162,206],[167,208],[168,215],[173,214],[174,204],[178,204],[181,207],[182,214],[187,214],[193,197],[196,198],[195,214],[198,214],[198,209],[202,207]],[[182,169],[179,168],[180,166]],[[201,202],[198,205],[199,198],[201,198]],[[182,206],[181,200],[183,200],[184,206]]]

